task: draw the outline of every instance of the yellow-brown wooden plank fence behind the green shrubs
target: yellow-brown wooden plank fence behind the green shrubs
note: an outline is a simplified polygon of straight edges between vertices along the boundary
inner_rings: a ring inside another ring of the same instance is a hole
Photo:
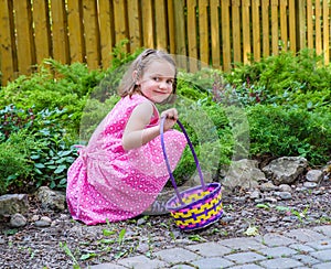
[[[0,0],[2,85],[52,57],[107,68],[111,50],[157,47],[227,72],[280,51],[330,62],[330,0]],[[190,64],[190,63],[189,63]]]

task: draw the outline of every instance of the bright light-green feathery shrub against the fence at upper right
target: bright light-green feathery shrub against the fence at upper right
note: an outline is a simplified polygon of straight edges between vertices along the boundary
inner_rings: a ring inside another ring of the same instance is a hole
[[[256,98],[257,104],[266,101],[302,107],[302,99],[298,97],[306,94],[320,96],[324,103],[331,101],[331,66],[323,65],[322,56],[311,50],[302,50],[298,54],[281,52],[249,65],[238,65],[224,77],[239,97],[246,96],[244,100]],[[314,98],[312,104],[317,103]],[[244,105],[253,104],[246,101]],[[307,107],[307,99],[303,107]]]

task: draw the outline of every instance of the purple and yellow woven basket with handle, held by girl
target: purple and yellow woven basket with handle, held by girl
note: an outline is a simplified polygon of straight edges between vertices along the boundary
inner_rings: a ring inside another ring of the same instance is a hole
[[[164,147],[164,120],[166,118],[162,117],[160,128],[161,146],[170,180],[175,191],[175,195],[167,202],[166,207],[170,212],[171,216],[174,218],[175,225],[181,230],[191,232],[205,228],[206,226],[217,222],[223,215],[222,186],[220,183],[216,182],[209,184],[204,183],[203,174],[194,148],[189,139],[189,136],[183,125],[178,120],[177,122],[182,129],[188,140],[188,144],[191,148],[201,181],[201,185],[199,186],[191,187],[182,192],[178,191],[178,186],[171,172],[170,163]]]

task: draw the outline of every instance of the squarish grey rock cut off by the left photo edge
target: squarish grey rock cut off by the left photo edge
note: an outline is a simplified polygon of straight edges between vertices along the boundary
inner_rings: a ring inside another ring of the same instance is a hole
[[[15,213],[25,214],[28,208],[28,194],[6,194],[0,196],[0,216],[10,216]]]

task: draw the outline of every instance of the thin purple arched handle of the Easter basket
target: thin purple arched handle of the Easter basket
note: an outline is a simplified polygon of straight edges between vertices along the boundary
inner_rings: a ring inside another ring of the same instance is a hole
[[[175,191],[175,195],[178,196],[178,198],[181,202],[181,204],[184,204],[184,202],[182,201],[182,197],[181,197],[181,195],[180,195],[180,193],[178,191],[178,186],[177,186],[175,180],[173,177],[173,174],[171,172],[170,163],[169,163],[168,155],[167,155],[167,152],[166,152],[164,137],[163,137],[164,121],[166,121],[166,117],[162,117],[161,118],[161,127],[160,127],[160,136],[161,136],[161,146],[162,146],[163,157],[164,157],[164,160],[166,160],[166,164],[167,164],[167,169],[168,169],[168,172],[169,172],[169,175],[170,175],[171,183],[172,183],[172,185],[174,187],[174,191]],[[189,136],[188,136],[188,132],[186,132],[184,126],[179,120],[177,120],[177,123],[182,129],[182,131],[183,131],[183,133],[184,133],[184,136],[185,136],[185,138],[188,140],[188,144],[190,146],[190,149],[192,151],[192,154],[193,154],[193,158],[194,158],[194,161],[195,161],[195,164],[196,164],[196,169],[197,169],[200,181],[201,181],[201,186],[202,186],[203,190],[205,190],[205,184],[204,184],[204,181],[203,181],[203,175],[202,175],[202,172],[201,172],[200,163],[199,163],[196,153],[194,151],[193,144],[192,144],[192,142],[191,142]]]

